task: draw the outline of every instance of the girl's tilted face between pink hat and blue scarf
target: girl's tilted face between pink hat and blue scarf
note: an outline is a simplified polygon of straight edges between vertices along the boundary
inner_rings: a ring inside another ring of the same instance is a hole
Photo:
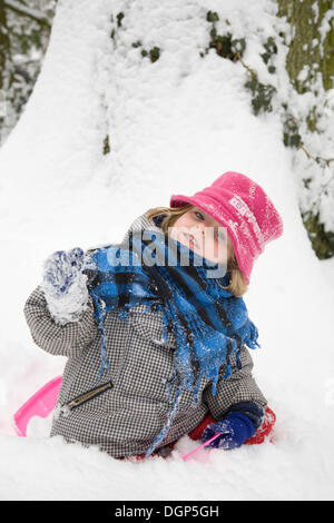
[[[226,228],[198,207],[181,215],[169,228],[169,235],[202,257],[218,264],[226,265],[233,254]]]

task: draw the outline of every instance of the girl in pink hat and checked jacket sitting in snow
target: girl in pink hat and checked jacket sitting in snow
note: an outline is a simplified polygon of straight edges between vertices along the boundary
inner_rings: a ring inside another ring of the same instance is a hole
[[[282,218],[232,171],[169,205],[117,246],[45,263],[24,315],[39,347],[68,357],[51,436],[149,456],[194,433],[239,447],[262,426],[267,401],[246,348],[259,347],[258,332],[242,296]]]

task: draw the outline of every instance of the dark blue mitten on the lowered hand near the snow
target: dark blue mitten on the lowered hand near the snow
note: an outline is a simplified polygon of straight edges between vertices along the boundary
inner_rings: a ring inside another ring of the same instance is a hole
[[[216,437],[207,447],[229,451],[242,446],[248,437],[253,436],[255,430],[249,417],[240,412],[232,412],[225,420],[208,425],[203,432],[202,442],[205,443],[219,433],[220,436]]]

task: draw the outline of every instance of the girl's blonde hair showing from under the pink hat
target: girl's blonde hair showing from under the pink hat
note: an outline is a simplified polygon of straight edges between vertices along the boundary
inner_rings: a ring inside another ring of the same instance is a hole
[[[158,215],[166,215],[161,221],[161,229],[164,230],[165,235],[168,234],[168,227],[173,227],[176,220],[183,216],[185,213],[190,210],[194,207],[193,204],[186,204],[181,207],[155,207],[149,209],[146,214],[147,219],[151,219]],[[218,284],[222,288],[227,289],[230,294],[236,296],[237,298],[242,297],[248,286],[246,284],[245,277],[238,267],[237,259],[232,248],[232,255],[227,260],[227,270],[230,275],[229,285],[224,287],[223,285]]]

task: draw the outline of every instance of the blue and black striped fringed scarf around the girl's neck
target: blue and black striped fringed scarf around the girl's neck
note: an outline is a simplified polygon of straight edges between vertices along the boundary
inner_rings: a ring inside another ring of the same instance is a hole
[[[120,308],[118,319],[125,319],[131,307],[145,304],[146,310],[155,309],[163,315],[163,342],[167,341],[168,329],[175,333],[174,372],[167,383],[171,406],[167,423],[146,453],[150,455],[170,427],[181,389],[191,391],[194,402],[198,402],[199,383],[205,376],[212,381],[215,395],[222,364],[225,364],[224,378],[227,378],[232,374],[232,355],[236,355],[240,368],[243,344],[249,348],[261,345],[244,299],[218,285],[228,284],[228,273],[220,278],[208,277],[208,270],[218,269],[218,264],[200,257],[163,231],[146,231],[145,235],[148,240],[143,239],[141,234],[130,231],[128,248],[109,246],[91,254],[90,262],[95,268],[89,294],[101,330],[99,377],[109,368],[104,330],[107,312]],[[188,266],[181,263],[185,257],[189,260]],[[174,397],[173,385],[176,387]]]

